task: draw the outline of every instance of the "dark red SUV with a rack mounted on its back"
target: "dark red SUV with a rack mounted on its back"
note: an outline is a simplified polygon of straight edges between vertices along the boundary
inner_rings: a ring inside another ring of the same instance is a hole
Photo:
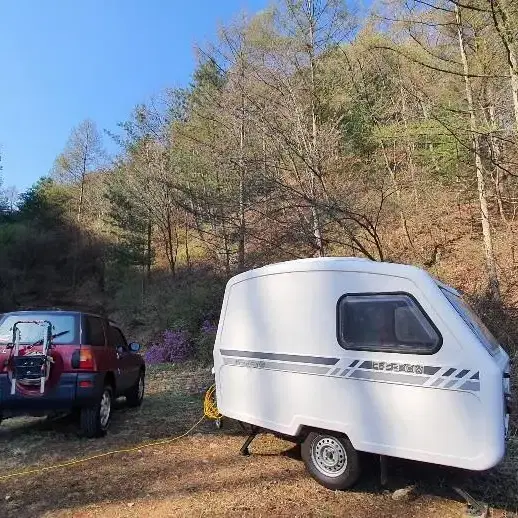
[[[117,325],[75,311],[0,315],[0,421],[79,410],[81,430],[100,437],[112,403],[144,397],[146,367]]]

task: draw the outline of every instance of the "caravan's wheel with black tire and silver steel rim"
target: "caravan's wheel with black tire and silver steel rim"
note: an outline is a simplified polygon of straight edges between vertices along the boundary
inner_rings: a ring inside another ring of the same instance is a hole
[[[301,453],[310,475],[328,489],[348,489],[360,476],[358,452],[345,435],[310,432]]]

